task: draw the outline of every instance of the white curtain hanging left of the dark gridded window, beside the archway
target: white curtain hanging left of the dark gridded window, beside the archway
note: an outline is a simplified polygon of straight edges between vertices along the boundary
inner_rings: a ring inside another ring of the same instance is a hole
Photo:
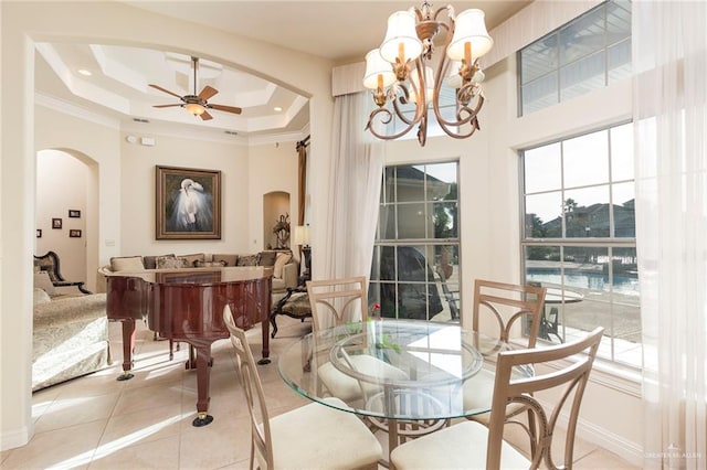
[[[363,132],[370,96],[336,97],[325,266],[316,278],[370,276],[383,165],[382,142]],[[316,184],[316,182],[315,182]]]

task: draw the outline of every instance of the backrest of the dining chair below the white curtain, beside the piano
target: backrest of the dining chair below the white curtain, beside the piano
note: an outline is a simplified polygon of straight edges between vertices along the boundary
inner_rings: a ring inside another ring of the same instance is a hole
[[[308,280],[307,295],[315,331],[368,320],[368,281],[365,276]]]

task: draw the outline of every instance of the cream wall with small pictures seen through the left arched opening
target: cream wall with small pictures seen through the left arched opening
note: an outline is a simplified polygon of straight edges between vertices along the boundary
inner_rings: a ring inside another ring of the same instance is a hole
[[[86,237],[96,236],[86,231],[86,195],[88,168],[71,154],[57,150],[41,150],[36,156],[36,255],[52,250],[61,260],[61,273],[65,279],[86,281]],[[80,212],[80,217],[70,217],[68,211]],[[53,226],[60,218],[61,228]],[[70,232],[81,231],[81,237],[71,237]]]

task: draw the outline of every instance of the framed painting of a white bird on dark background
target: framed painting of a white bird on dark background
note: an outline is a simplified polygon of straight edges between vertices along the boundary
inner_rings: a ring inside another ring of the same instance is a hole
[[[155,238],[221,239],[221,172],[155,167]]]

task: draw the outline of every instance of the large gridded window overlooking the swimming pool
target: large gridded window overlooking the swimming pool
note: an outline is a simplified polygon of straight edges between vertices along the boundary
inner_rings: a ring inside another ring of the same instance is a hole
[[[548,288],[540,337],[604,327],[600,355],[641,365],[633,125],[520,152],[524,275]]]

